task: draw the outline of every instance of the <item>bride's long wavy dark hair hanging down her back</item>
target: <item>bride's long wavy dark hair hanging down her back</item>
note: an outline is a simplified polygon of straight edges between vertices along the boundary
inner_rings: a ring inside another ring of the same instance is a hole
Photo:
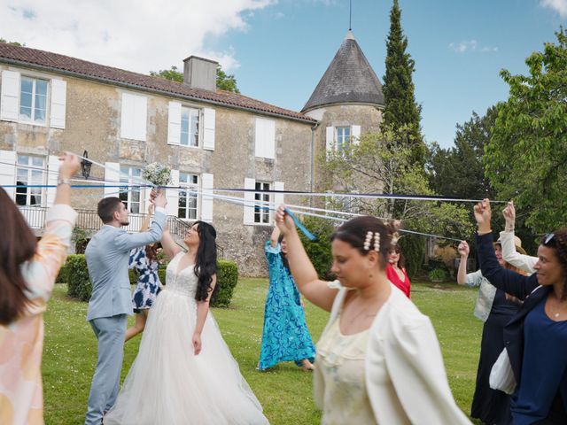
[[[213,282],[213,274],[216,274],[216,230],[209,223],[204,221],[195,221],[193,226],[198,225],[198,249],[195,257],[195,275],[198,277],[197,292],[195,299],[197,301],[205,301],[211,293],[211,282]],[[216,296],[219,285],[214,286],[211,301]]]

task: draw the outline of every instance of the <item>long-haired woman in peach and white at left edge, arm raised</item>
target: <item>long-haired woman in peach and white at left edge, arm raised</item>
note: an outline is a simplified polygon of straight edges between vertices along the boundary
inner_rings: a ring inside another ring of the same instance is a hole
[[[55,205],[37,241],[24,216],[0,188],[0,423],[43,424],[43,312],[65,262],[77,213],[68,179],[79,170],[74,155],[61,157]]]

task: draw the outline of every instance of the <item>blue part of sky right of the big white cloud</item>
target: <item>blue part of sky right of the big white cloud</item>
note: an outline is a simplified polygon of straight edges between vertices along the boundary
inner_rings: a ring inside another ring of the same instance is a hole
[[[353,0],[353,34],[383,81],[391,1]],[[565,19],[531,0],[400,0],[408,51],[416,61],[423,134],[452,145],[456,123],[508,97],[502,68],[526,73],[524,59]],[[223,37],[237,51],[243,93],[299,110],[348,28],[348,1],[281,2],[255,12],[245,34]]]

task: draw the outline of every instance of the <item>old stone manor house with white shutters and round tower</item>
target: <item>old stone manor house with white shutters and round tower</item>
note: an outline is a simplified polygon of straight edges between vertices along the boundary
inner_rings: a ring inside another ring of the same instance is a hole
[[[94,164],[75,176],[78,226],[93,234],[98,200],[117,196],[135,232],[148,207],[144,167],[167,165],[170,231],[181,238],[191,221],[211,222],[222,258],[265,274],[273,212],[260,205],[283,195],[229,189],[315,189],[318,151],[377,128],[384,97],[350,31],[303,112],[216,89],[216,66],[187,58],[179,83],[0,43],[0,185],[41,235],[58,154],[86,151]]]

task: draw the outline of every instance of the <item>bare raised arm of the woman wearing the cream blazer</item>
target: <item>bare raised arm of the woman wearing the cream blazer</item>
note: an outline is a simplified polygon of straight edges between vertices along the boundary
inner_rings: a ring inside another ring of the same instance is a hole
[[[281,205],[276,211],[276,225],[287,242],[287,259],[293,280],[305,298],[313,304],[330,312],[338,290],[329,288],[328,282],[319,280],[315,267],[307,257],[307,252],[299,239],[295,224]]]

